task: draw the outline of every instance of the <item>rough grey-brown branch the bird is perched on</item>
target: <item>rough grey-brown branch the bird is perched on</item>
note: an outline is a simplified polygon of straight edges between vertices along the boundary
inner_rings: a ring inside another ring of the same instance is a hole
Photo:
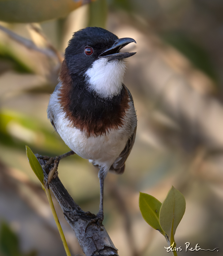
[[[38,154],[36,154],[36,157],[42,166],[44,179],[47,182],[48,173],[54,166],[54,161],[49,166],[45,166],[47,159],[41,159]],[[76,238],[78,238],[78,242],[86,256],[118,256],[117,249],[107,234],[105,227],[97,222],[96,215],[91,212],[84,212],[74,202],[57,176],[52,179],[49,187],[60,204],[65,219],[75,231]]]

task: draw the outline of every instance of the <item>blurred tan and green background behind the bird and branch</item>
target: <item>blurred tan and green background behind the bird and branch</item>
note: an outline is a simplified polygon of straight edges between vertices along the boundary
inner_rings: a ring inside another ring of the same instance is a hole
[[[138,116],[122,176],[105,180],[104,226],[120,256],[166,256],[166,241],[140,214],[139,191],[160,202],[174,185],[186,199],[175,234],[199,255],[223,250],[223,1],[0,0],[0,255],[65,255],[44,191],[26,157],[69,148],[47,120],[72,33],[100,26],[137,45],[125,85]],[[84,4],[87,3],[87,4]],[[84,5],[82,5],[84,4]],[[82,6],[81,6],[82,5]],[[98,212],[98,171],[74,155],[59,177],[84,211]],[[54,200],[55,201],[55,200]],[[72,255],[83,255],[55,201]],[[220,253],[220,254],[219,254]]]

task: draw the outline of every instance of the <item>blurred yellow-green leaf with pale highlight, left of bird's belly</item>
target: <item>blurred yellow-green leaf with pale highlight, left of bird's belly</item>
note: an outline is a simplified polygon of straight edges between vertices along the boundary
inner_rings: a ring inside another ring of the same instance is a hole
[[[25,150],[28,143],[40,154],[69,151],[63,140],[38,120],[11,110],[0,111],[0,143]],[[56,133],[56,132],[55,132]]]

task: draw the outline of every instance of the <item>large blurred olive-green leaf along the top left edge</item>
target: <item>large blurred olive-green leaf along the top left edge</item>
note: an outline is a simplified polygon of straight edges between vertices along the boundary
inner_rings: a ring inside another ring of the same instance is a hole
[[[91,0],[0,0],[0,20],[41,22],[62,18]]]

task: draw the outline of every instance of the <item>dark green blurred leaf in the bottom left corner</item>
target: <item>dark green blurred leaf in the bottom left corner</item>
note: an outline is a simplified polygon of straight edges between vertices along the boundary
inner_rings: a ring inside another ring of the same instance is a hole
[[[0,255],[20,256],[19,239],[7,223],[1,223],[0,229]]]

